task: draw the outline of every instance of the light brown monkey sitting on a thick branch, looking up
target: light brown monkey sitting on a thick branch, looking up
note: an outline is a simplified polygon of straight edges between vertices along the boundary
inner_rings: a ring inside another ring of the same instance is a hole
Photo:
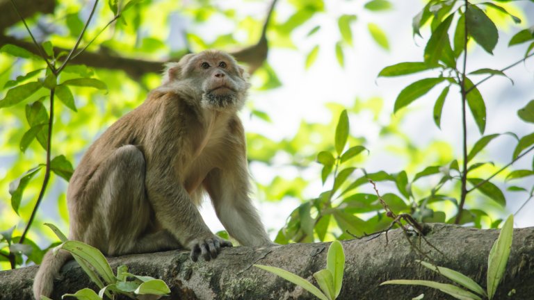
[[[191,250],[216,258],[232,243],[204,223],[209,195],[229,235],[245,246],[272,245],[250,199],[243,124],[237,113],[250,88],[227,53],[207,50],[168,63],[162,84],[88,148],[67,188],[70,240],[106,256]],[[72,256],[48,251],[33,294],[49,296]]]

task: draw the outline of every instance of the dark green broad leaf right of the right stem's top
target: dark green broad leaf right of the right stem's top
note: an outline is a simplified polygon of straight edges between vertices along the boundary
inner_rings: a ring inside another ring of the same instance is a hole
[[[484,48],[489,54],[493,54],[493,49],[499,40],[499,31],[489,17],[480,8],[469,4],[465,12],[467,31],[474,40]]]

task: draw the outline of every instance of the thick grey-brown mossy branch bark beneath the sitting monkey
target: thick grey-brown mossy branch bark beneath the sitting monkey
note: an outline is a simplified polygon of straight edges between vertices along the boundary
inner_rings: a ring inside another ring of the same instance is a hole
[[[487,256],[499,235],[496,230],[480,230],[455,225],[430,224],[426,235],[444,255],[421,240],[421,248],[440,266],[455,269],[486,286]],[[343,241],[346,255],[343,288],[339,299],[411,299],[421,293],[424,299],[453,299],[430,288],[412,285],[383,285],[390,279],[426,279],[450,283],[439,274],[421,267],[425,260],[414,251],[400,229],[369,240]],[[410,237],[419,244],[419,238]],[[325,268],[329,243],[288,244],[275,247],[234,247],[224,249],[210,262],[193,263],[186,251],[168,251],[109,258],[116,269],[125,264],[129,272],[165,281],[171,290],[165,299],[314,299],[302,288],[270,274],[253,264],[282,267],[315,283],[312,274]],[[534,294],[534,228],[514,230],[512,251],[506,273],[494,299],[532,299]],[[0,272],[0,299],[31,299],[31,285],[37,267]],[[81,288],[96,288],[75,261],[62,269],[54,283],[53,299]]]

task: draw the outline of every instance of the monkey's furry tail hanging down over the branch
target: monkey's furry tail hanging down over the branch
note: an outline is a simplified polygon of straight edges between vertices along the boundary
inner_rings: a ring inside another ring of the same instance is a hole
[[[41,295],[50,297],[54,289],[54,278],[59,276],[59,271],[63,264],[71,259],[72,255],[65,250],[58,251],[55,256],[54,249],[50,249],[44,254],[42,263],[33,280],[33,297],[36,300],[41,299]]]

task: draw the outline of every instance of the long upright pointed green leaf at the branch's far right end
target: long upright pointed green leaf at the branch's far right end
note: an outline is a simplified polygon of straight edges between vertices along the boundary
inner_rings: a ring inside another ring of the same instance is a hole
[[[512,236],[514,235],[514,215],[510,215],[503,224],[499,238],[489,251],[487,259],[487,297],[491,300],[501,282],[510,256]]]

